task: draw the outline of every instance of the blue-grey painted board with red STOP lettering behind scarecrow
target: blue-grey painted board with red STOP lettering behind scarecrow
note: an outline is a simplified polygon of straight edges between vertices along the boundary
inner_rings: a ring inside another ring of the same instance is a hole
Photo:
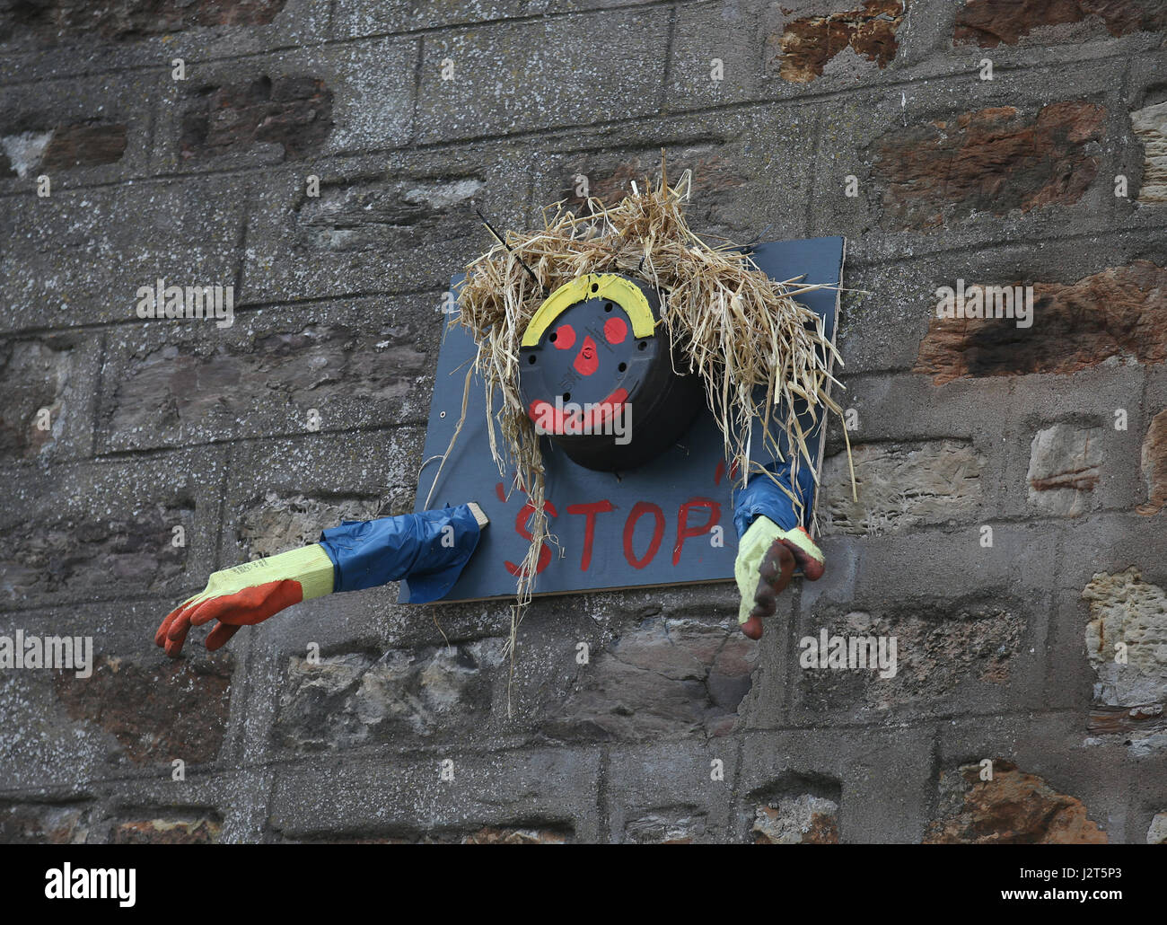
[[[841,237],[785,241],[755,245],[754,260],[771,279],[805,274],[805,283],[841,285],[845,242]],[[798,297],[824,319],[831,341],[838,326],[839,293],[818,290]],[[462,409],[466,370],[475,355],[474,341],[462,328],[446,333],[438,359],[429,425],[422,459],[440,457],[449,445]],[[445,413],[445,416],[443,416]],[[816,465],[823,458],[822,420],[816,425],[801,412],[808,446]],[[635,419],[634,419],[635,425]],[[773,461],[762,452],[755,430],[752,458]],[[603,473],[581,468],[544,439],[547,470],[547,510],[559,548],[545,550],[545,566],[536,582],[537,594],[561,594],[630,586],[721,582],[733,578],[738,538],[733,528],[731,480],[722,458],[722,440],[707,409],[670,450],[633,472]],[[415,509],[421,510],[438,473],[438,461],[421,472]],[[530,516],[525,496],[501,493],[511,477],[502,478],[490,458],[482,383],[475,377],[466,424],[454,452],[433,489],[429,507],[477,501],[490,517],[477,551],[443,600],[475,600],[515,594],[516,568],[529,541],[520,533]],[[806,527],[811,527],[811,513]],[[713,540],[721,528],[724,543]],[[408,583],[400,599],[408,600]]]

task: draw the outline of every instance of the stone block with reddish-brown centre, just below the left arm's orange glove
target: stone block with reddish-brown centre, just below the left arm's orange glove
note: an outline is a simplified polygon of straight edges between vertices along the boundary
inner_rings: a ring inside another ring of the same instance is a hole
[[[26,651],[33,635],[46,649],[54,637],[81,637],[79,651],[91,653],[92,668],[84,676],[75,659],[74,670],[0,670],[0,725],[8,730],[0,739],[0,779],[8,790],[35,791],[42,802],[85,802],[100,795],[95,793],[99,781],[113,779],[118,784],[112,792],[137,794],[126,797],[127,819],[144,806],[217,805],[222,794],[205,776],[217,760],[229,758],[225,731],[233,691],[226,686],[246,634],[208,656],[193,633],[177,662],[154,646],[162,618],[200,587],[201,582],[173,596],[123,596],[109,603],[95,593],[83,598],[83,605],[0,614],[0,635],[14,642],[22,631]],[[186,761],[186,781],[172,780],[174,758]],[[134,781],[151,780],[156,792],[134,790]],[[205,801],[196,801],[204,784]],[[89,826],[90,841],[106,837],[103,828],[93,827],[102,818]]]

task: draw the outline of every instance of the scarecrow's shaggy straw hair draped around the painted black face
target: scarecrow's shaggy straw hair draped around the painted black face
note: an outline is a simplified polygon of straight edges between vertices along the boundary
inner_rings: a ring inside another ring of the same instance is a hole
[[[825,336],[822,319],[796,300],[824,286],[771,280],[735,245],[714,246],[693,234],[684,214],[691,185],[686,171],[676,186],[669,186],[662,153],[661,178],[656,185],[645,181],[643,193],[633,183],[633,195],[609,208],[589,199],[585,215],[575,215],[564,202],[550,206],[541,230],[508,231],[505,244],[499,242],[466,269],[457,299],[461,311],[450,324],[462,325],[474,336],[478,348],[474,370],[484,383],[487,408],[501,399],[488,426],[495,464],[504,477],[515,468],[512,488],[524,492],[533,509],[529,524],[533,538],[512,608],[512,666],[534,568],[544,544],[552,542],[539,438],[519,395],[518,362],[527,321],[546,293],[582,273],[623,273],[658,290],[664,332],[657,334],[664,333],[680,348],[678,373],[701,376],[725,457],[736,464],[739,478],[749,472],[755,419],[763,423],[763,452],[782,458],[780,437],[788,438],[797,477],[802,465],[813,472],[817,460],[806,447],[795,401],[805,404],[815,422],[826,413],[841,415],[830,397],[831,384],[838,384],[830,370],[832,360],[840,366],[843,361]],[[760,464],[753,466],[761,471]],[[792,500],[802,513],[798,499]]]

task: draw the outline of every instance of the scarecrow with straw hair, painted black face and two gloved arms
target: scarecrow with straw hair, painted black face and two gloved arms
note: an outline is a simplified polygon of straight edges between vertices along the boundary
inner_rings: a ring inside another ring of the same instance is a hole
[[[707,406],[736,473],[742,632],[761,638],[796,570],[810,580],[823,575],[823,554],[804,526],[817,474],[802,422],[809,415],[818,426],[827,412],[840,413],[830,397],[838,355],[820,319],[796,300],[820,286],[771,280],[748,248],[694,235],[684,216],[690,186],[686,172],[670,187],[662,164],[655,187],[641,193],[634,183],[612,208],[588,200],[575,215],[558,203],[541,230],[505,238],[487,223],[497,244],[467,267],[450,321],[477,346],[466,389],[476,375],[485,406],[498,409],[487,416],[490,451],[531,510],[530,547],[516,569],[512,653],[536,565],[554,542],[545,437],[580,466],[627,471],[651,466]],[[630,433],[610,426],[634,405]],[[456,439],[457,429],[442,463]],[[752,448],[771,461],[757,461]],[[406,580],[411,603],[439,600],[488,523],[480,502],[345,521],[302,549],[214,572],[167,614],[155,641],[176,658],[193,626],[214,621],[205,645],[216,649],[242,626],[301,600],[389,582]]]

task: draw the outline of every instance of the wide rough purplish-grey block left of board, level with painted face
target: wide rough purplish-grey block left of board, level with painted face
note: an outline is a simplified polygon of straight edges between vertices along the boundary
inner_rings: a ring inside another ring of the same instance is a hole
[[[446,318],[438,305],[439,293],[329,301],[238,317],[229,328],[155,321],[117,331],[103,376],[102,445],[424,420]]]

